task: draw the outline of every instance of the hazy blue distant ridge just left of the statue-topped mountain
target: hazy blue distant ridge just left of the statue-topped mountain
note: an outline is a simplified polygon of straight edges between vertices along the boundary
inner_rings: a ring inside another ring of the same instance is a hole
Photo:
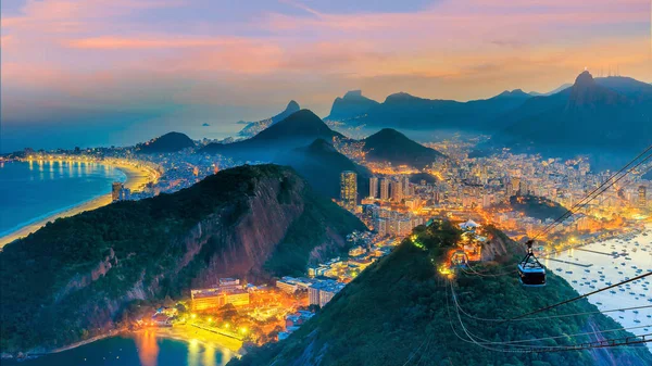
[[[372,106],[365,115],[355,118],[355,123],[411,129],[493,131],[504,127],[496,125],[493,119],[497,116],[522,105],[530,98],[531,96],[518,89],[468,102],[430,100],[399,92]]]

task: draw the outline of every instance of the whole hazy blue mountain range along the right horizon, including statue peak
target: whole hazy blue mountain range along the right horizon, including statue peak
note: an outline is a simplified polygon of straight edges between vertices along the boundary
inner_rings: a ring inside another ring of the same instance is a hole
[[[353,126],[481,132],[493,137],[484,150],[588,154],[595,166],[614,167],[652,143],[652,86],[620,76],[593,79],[584,72],[574,84],[548,93],[516,89],[468,102],[399,92],[378,103],[355,91],[336,99],[327,118]]]

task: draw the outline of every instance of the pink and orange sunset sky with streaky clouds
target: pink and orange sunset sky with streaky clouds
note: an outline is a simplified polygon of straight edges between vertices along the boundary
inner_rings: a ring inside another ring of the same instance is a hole
[[[0,152],[225,137],[353,89],[472,100],[585,67],[651,83],[651,3],[2,0]]]

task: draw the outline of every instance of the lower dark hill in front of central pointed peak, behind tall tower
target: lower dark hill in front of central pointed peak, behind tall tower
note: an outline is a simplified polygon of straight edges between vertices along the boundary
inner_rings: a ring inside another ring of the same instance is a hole
[[[311,187],[326,197],[339,199],[340,174],[344,171],[358,174],[358,191],[361,197],[368,192],[371,172],[353,163],[322,138],[314,140],[308,147],[280,155],[275,162],[294,168]]]

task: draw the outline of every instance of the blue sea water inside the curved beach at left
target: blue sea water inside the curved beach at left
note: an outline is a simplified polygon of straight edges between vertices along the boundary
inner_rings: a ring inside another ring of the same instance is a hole
[[[125,179],[120,169],[96,163],[0,164],[0,237],[109,193],[113,181]]]

